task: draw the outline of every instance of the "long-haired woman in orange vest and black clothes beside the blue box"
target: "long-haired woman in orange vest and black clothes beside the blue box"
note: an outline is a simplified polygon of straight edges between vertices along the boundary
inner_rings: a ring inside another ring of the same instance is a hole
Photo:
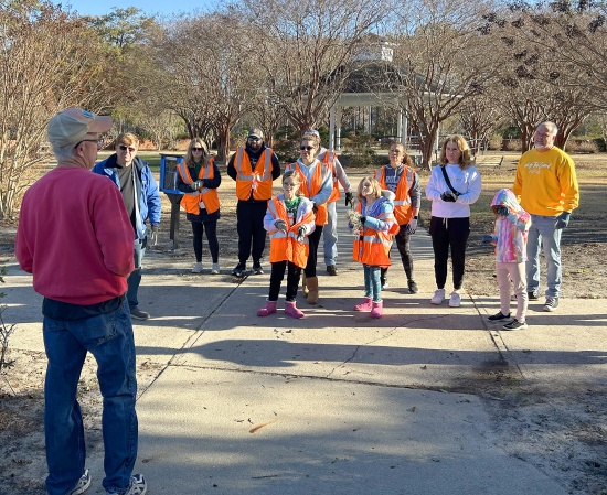
[[[215,159],[209,155],[209,149],[202,139],[194,138],[190,141],[185,159],[178,165],[178,171],[177,189],[184,193],[181,206],[185,209],[185,217],[191,222],[194,235],[196,262],[192,268],[192,273],[202,272],[202,234],[206,233],[213,261],[211,273],[216,275],[220,272],[217,187],[222,177],[215,165]]]

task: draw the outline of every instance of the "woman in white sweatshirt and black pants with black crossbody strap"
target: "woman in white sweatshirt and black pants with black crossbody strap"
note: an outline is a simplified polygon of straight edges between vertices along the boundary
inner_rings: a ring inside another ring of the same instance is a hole
[[[426,197],[432,201],[429,234],[434,249],[434,273],[437,290],[432,303],[445,300],[449,247],[454,268],[451,308],[461,303],[459,290],[464,282],[466,244],[470,235],[470,205],[480,195],[481,180],[478,170],[470,164],[470,148],[459,134],[448,137],[440,149],[440,165],[432,171]]]

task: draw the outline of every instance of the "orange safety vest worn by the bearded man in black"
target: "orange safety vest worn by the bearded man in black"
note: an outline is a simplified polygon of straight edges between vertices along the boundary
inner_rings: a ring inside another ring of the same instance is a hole
[[[259,155],[259,160],[252,170],[251,160],[244,148],[238,148],[234,159],[236,169],[236,196],[238,200],[248,201],[251,190],[253,198],[267,201],[271,197],[271,148],[266,148]]]

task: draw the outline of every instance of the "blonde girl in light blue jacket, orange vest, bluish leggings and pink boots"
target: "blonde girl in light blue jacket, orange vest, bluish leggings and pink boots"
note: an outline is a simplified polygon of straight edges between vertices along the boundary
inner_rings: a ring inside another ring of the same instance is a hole
[[[381,269],[390,267],[392,238],[398,232],[393,211],[394,193],[382,191],[373,177],[364,177],[358,190],[356,212],[350,219],[350,228],[358,230],[354,240],[354,261],[364,267],[364,300],[354,311],[371,311],[371,318],[383,312]]]

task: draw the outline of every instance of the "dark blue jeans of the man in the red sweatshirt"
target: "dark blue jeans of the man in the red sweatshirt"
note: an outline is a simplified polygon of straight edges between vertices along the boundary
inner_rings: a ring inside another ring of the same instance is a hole
[[[103,485],[106,491],[126,492],[138,441],[135,343],[128,305],[124,302],[111,313],[79,321],[44,316],[43,334],[49,358],[44,384],[47,494],[64,495],[85,470],[84,426],[76,395],[87,352],[97,362],[104,397]]]

